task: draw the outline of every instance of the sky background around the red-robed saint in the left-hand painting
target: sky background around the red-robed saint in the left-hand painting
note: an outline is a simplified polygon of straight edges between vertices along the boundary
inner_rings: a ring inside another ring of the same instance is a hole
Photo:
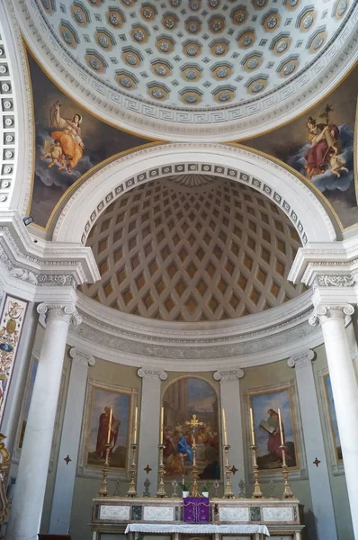
[[[94,406],[91,419],[91,437],[89,441],[88,452],[94,452],[97,443],[98,426],[101,414],[104,412],[104,407],[113,407],[113,417],[121,420],[120,431],[116,446],[127,446],[127,434],[130,419],[130,395],[117,392],[110,392],[100,388],[94,389]]]

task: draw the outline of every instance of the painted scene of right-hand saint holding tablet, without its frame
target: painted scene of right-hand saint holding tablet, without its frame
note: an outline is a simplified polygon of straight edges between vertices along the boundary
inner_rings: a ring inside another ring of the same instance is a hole
[[[261,470],[277,469],[282,466],[281,435],[286,450],[286,463],[297,466],[295,434],[291,420],[291,400],[288,390],[267,392],[251,397],[255,440],[258,446],[257,464]],[[278,410],[282,416],[282,434]]]

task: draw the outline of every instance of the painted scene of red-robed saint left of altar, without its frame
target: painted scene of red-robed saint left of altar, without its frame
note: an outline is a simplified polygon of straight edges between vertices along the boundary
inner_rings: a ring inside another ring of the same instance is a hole
[[[90,401],[86,465],[103,467],[110,434],[110,467],[126,469],[130,432],[130,394],[94,387]],[[112,421],[110,426],[112,408]]]

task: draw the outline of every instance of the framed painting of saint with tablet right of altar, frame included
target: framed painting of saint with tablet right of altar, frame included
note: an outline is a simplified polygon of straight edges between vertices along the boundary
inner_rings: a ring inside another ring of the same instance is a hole
[[[257,464],[262,479],[269,481],[282,476],[282,450],[279,410],[282,417],[282,437],[287,447],[286,463],[291,479],[306,478],[307,469],[302,443],[300,407],[295,381],[248,389],[244,392],[246,408],[246,456],[252,467],[250,451],[253,411]]]

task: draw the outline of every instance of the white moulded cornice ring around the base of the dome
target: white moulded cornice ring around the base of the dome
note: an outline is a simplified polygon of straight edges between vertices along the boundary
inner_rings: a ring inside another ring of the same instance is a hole
[[[194,110],[134,98],[122,92],[119,86],[90,74],[54,35],[35,3],[17,0],[13,4],[35,56],[61,82],[67,94],[100,114],[103,120],[154,139],[212,139],[214,136],[230,140],[253,137],[262,130],[273,129],[332,91],[336,81],[345,76],[356,58],[357,6],[353,4],[339,31],[297,76],[262,96],[232,105]],[[214,134],[210,130],[213,124]]]

